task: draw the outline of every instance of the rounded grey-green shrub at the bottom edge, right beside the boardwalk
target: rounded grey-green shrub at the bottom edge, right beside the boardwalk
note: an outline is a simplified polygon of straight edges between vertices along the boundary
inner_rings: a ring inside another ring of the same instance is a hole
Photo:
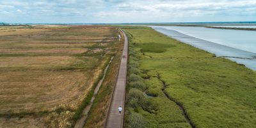
[[[141,116],[140,114],[131,113],[130,116],[128,117],[128,127],[129,128],[147,127],[147,122],[145,121],[143,116]]]

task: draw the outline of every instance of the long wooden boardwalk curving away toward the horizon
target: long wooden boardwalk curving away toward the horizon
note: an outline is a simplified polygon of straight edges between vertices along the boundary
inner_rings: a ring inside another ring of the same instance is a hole
[[[121,30],[122,31],[122,30]],[[126,85],[126,74],[127,74],[127,58],[128,58],[128,38],[124,31],[124,50],[122,54],[122,60],[116,79],[115,90],[111,99],[111,104],[108,112],[108,118],[106,120],[106,128],[122,128],[124,121],[124,103],[125,103],[125,85]],[[126,56],[124,58],[123,56]],[[122,106],[123,111],[121,114],[118,113],[118,107]]]

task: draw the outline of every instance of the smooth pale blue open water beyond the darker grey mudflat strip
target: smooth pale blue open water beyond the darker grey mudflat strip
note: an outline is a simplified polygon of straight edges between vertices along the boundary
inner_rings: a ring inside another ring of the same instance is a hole
[[[159,26],[216,44],[256,53],[256,31],[212,29],[204,27]]]

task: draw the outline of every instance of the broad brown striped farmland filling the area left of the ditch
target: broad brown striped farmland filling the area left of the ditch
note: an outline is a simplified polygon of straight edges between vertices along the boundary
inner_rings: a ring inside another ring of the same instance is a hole
[[[119,51],[117,35],[106,26],[0,27],[0,125],[70,126]]]

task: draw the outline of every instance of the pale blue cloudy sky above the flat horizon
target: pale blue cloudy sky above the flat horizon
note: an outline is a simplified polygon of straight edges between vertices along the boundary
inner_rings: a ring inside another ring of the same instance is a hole
[[[256,21],[256,0],[0,0],[0,22]]]

